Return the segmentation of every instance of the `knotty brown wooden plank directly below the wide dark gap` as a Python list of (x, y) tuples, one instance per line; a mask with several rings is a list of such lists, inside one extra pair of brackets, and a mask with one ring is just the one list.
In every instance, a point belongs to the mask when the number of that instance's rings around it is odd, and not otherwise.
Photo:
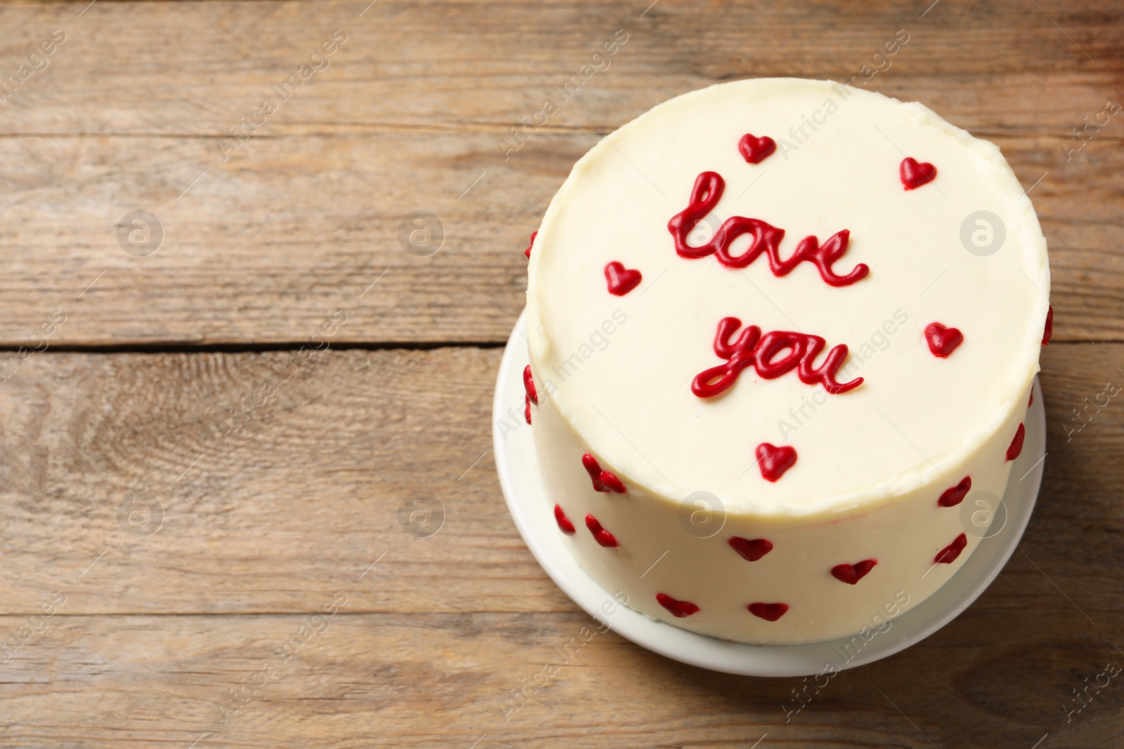
[[(284, 613), (361, 576), (371, 586), (352, 611), (573, 610), (499, 492), (498, 349), (327, 350), (300, 367), (290, 356), (29, 359), (0, 387), (0, 613), (33, 613), (58, 590), (73, 614)], [(1057, 583), (1082, 622), (1122, 609), (1124, 411), (1098, 396), (1124, 383), (1120, 362), (1118, 344), (1045, 349), (1045, 484), (1026, 556), (991, 605), (1070, 606)], [(1086, 398), (1108, 405), (1078, 430)], [(226, 435), (243, 399), (263, 404)], [(399, 520), (417, 492), (443, 508), (434, 536)], [(158, 523), (144, 524), (137, 499), (162, 509)]]

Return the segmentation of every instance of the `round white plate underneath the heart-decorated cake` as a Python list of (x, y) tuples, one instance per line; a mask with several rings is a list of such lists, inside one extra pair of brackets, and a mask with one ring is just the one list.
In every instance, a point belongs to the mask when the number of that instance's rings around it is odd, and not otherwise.
[[(638, 611), (615, 605), (613, 597), (586, 574), (562, 544), (554, 522), (554, 503), (543, 490), (531, 427), (523, 418), (523, 367), (527, 364), (524, 331), (525, 314), (520, 314), (500, 362), (492, 404), (496, 467), (511, 518), (538, 564), (586, 613), (597, 614), (599, 621), (608, 623), (618, 634), (668, 658), (745, 676), (809, 676), (823, 673), (828, 663), (842, 670), (886, 658), (925, 639), (971, 605), (1003, 569), (1031, 519), (1042, 483), (1046, 441), (1042, 390), (1036, 381), (1034, 404), (1026, 414), (1026, 441), (1003, 496), (1007, 511), (1003, 529), (982, 539), (948, 583), (892, 620), (888, 630), (870, 639), (850, 660), (842, 655), (849, 652), (844, 646), (851, 642), (850, 638), (806, 645), (745, 645), (654, 621)], [(1000, 520), (1001, 513), (997, 512), (996, 522)]]

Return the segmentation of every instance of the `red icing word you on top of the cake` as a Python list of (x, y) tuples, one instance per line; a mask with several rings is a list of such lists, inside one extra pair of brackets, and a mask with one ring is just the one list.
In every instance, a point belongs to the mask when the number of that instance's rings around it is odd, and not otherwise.
[(758, 326), (747, 326), (736, 341), (731, 341), (734, 332), (742, 327), (737, 318), (723, 318), (714, 338), (714, 353), (726, 359), (725, 364), (700, 372), (691, 382), (691, 392), (699, 398), (714, 398), (725, 392), (752, 366), (764, 380), (774, 380), (796, 369), (800, 382), (821, 384), (828, 393), (837, 395), (862, 384), (862, 377), (839, 383), (835, 376), (847, 356), (847, 347), (840, 344), (832, 348), (819, 367), (813, 363), (824, 349), (826, 341), (819, 336), (803, 332), (773, 330), (761, 335)]

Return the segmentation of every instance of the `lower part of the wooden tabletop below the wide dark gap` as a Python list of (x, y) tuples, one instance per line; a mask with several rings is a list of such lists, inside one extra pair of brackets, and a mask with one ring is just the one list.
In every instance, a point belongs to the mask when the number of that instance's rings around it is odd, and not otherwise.
[[(1118, 685), (1068, 723), (1062, 705), (1124, 661), (1124, 411), (1090, 410), (1080, 431), (1071, 417), (1124, 381), (1124, 345), (1045, 349), (1050, 455), (1031, 526), (987, 593), (921, 646), (787, 715), (800, 679), (706, 674), (600, 633), (509, 721), (509, 691), (589, 620), (535, 564), (499, 493), (500, 351), (326, 350), (283, 381), (290, 356), (45, 353), (0, 387), (0, 633), (65, 596), (0, 666), (4, 746), (57, 746), (74, 730), (96, 747), (201, 733), (200, 746), (363, 746), (348, 723), (418, 747), (482, 733), (625, 747), (643, 743), (637, 729), (655, 746), (744, 747), (767, 732), (792, 746), (930, 746), (909, 721), (941, 747), (1025, 748), (1044, 732), (1055, 747), (1115, 746)], [(277, 395), (224, 440), (221, 411), (266, 381)], [(419, 491), (444, 506), (428, 538), (398, 519)], [(158, 501), (151, 536), (125, 530), (152, 529), (119, 519), (128, 492)], [(216, 722), (223, 695), (336, 591), (347, 601), (329, 629)]]

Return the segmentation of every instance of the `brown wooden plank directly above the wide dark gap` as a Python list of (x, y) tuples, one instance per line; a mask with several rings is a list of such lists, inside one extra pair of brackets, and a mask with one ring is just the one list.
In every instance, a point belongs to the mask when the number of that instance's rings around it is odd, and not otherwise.
[[(346, 157), (318, 136), (261, 139), (219, 170), (205, 139), (52, 138), (110, 201), (43, 139), (0, 138), (0, 205), (21, 217), (0, 226), (0, 345), (42, 346), (33, 335), (55, 310), (54, 346), (307, 341), (337, 309), (338, 342), (506, 340), (524, 304), (522, 250), (597, 137), (543, 135), (507, 165), (482, 134), (333, 135)], [(1057, 140), (997, 140), (1033, 186), (1058, 339), (1121, 339), (1124, 149), (1094, 143), (1067, 164)], [(143, 170), (120, 171), (138, 154)], [(136, 210), (163, 227), (147, 257), (116, 235)], [(414, 210), (444, 227), (433, 256), (399, 240)]]

